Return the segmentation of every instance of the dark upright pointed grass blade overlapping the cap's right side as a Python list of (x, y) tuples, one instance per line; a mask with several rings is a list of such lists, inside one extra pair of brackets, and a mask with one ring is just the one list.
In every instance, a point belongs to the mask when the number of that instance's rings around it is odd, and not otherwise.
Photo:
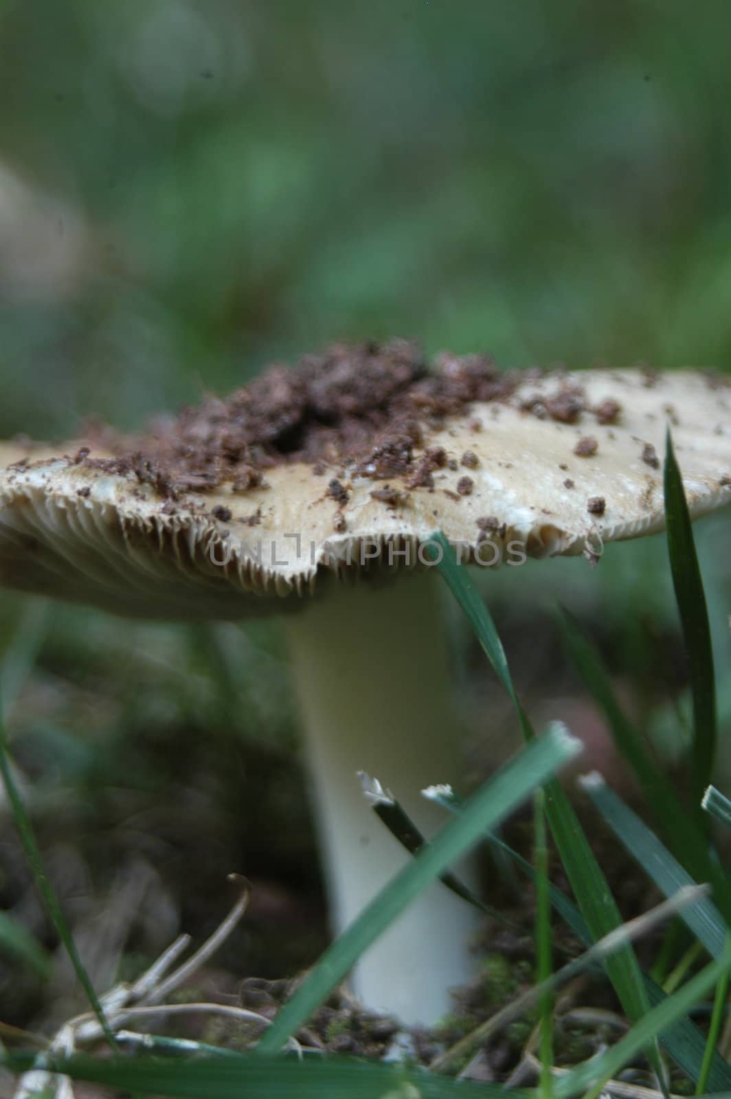
[(698, 566), (688, 504), (669, 430), (665, 452), (665, 522), (673, 587), (680, 615), (693, 696), (690, 790), (698, 806), (708, 786), (717, 750), (716, 678), (706, 593)]

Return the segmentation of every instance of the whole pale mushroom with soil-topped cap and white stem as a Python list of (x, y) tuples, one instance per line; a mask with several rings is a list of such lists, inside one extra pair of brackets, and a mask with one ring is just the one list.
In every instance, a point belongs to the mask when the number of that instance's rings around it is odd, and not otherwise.
[[(429, 374), (409, 344), (337, 346), (134, 440), (0, 444), (0, 582), (147, 618), (291, 612), (337, 932), (407, 857), (356, 771), (427, 831), (420, 789), (459, 779), (432, 533), (481, 566), (596, 562), (663, 528), (647, 456), (668, 422), (691, 515), (715, 510), (731, 499), (730, 393), (689, 371), (499, 374), (443, 356)], [(469, 975), (473, 920), (435, 886), (367, 952), (354, 990), (433, 1022)]]

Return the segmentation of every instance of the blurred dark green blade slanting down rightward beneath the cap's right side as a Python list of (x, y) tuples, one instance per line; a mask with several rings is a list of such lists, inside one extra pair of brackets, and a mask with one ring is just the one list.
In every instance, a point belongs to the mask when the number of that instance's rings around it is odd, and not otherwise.
[(566, 648), (587, 690), (603, 711), (618, 751), (634, 770), (668, 846), (696, 881), (709, 881), (712, 885), (716, 902), (724, 920), (731, 925), (731, 882), (710, 856), (708, 841), (698, 826), (696, 817), (678, 812), (676, 791), (657, 768), (642, 736), (624, 714), (599, 654), (584, 636), (576, 620), (562, 608), (557, 621)]

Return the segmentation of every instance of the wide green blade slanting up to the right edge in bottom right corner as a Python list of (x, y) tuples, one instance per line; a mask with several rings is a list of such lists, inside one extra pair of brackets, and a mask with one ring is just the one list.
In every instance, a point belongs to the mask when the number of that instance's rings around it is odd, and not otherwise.
[(600, 1056), (579, 1065), (571, 1075), (554, 1084), (556, 1099), (569, 1099), (571, 1096), (579, 1095), (587, 1089), (589, 1089), (587, 1099), (598, 1096), (607, 1080), (621, 1072), (647, 1045), (647, 1042), (657, 1039), (671, 1023), (687, 1014), (730, 968), (731, 945), (724, 950), (720, 958), (709, 963), (683, 988), (654, 1007), (644, 1019), (635, 1022), (632, 1030), (616, 1045), (610, 1046)]

